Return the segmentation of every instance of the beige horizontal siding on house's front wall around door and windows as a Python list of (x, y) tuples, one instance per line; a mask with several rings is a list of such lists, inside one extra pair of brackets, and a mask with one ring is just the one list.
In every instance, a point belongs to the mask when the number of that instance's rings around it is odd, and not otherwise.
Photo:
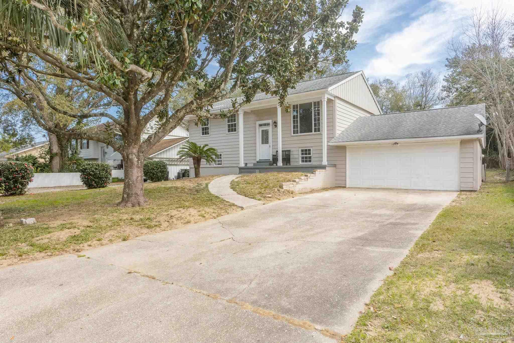
[[(310, 99), (309, 99), (310, 100)], [(308, 101), (307, 99), (305, 101)], [(314, 99), (314, 101), (318, 101)], [(320, 101), (320, 105), (323, 102)], [(320, 110), (322, 113), (322, 109)], [(327, 141), (334, 138), (334, 101), (327, 100)], [(244, 132), (243, 132), (243, 149), (244, 162), (251, 166), (256, 162), (256, 122), (270, 120), (271, 121), (271, 153), (274, 154), (278, 150), (278, 132), (273, 126), (273, 121), (277, 120), (277, 108), (270, 107), (262, 110), (254, 110), (245, 112), (243, 115)], [(216, 148), (223, 155), (223, 166), (208, 165), (205, 161), (201, 163), (202, 175), (228, 174), (237, 173), (239, 166), (239, 135), (237, 133), (227, 133), (226, 119), (210, 119), (210, 135), (200, 136), (200, 127), (195, 126), (194, 120), (189, 121), (189, 133), (191, 141), (201, 145), (209, 144)], [(240, 130), (239, 119), (237, 116), (237, 130)], [(291, 150), (291, 165), (299, 165), (299, 153), (301, 148), (311, 148), (313, 154), (313, 164), (321, 164), (323, 161), (322, 152), (322, 134), (302, 134), (293, 135), (291, 128), (291, 112), (282, 109), (282, 150)], [(341, 149), (337, 147), (327, 147), (327, 163), (336, 164), (342, 158)], [(193, 162), (190, 160), (190, 169), (193, 170)]]

